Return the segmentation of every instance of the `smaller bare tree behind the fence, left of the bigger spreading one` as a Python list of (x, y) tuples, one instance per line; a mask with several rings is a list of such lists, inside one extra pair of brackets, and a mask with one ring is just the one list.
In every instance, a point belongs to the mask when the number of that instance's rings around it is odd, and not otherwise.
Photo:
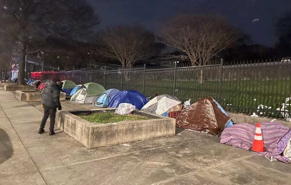
[(101, 55), (120, 61), (125, 69), (130, 69), (138, 60), (152, 54), (155, 36), (141, 27), (118, 26), (100, 31), (98, 43)]

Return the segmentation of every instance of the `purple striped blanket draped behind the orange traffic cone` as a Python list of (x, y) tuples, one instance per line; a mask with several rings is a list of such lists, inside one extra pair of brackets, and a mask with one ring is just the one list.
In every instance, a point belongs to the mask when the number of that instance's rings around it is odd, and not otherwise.
[[(239, 123), (225, 128), (221, 134), (220, 143), (249, 150), (254, 141), (256, 125)], [(266, 152), (256, 154), (274, 157), (282, 162), (291, 163), (287, 157), (281, 156), (289, 139), (291, 128), (285, 127), (277, 122), (261, 123), (264, 147)]]

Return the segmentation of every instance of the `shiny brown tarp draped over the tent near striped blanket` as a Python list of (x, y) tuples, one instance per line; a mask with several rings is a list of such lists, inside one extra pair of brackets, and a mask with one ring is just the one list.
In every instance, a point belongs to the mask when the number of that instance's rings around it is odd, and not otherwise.
[(176, 126), (180, 128), (206, 131), (219, 136), (230, 119), (221, 112), (211, 97), (196, 101), (176, 117)]

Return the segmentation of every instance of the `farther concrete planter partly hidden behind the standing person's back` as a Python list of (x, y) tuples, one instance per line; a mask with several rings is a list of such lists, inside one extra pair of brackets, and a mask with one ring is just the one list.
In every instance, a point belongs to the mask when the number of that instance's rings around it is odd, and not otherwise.
[[(15, 97), (20, 101), (41, 101), (40, 91), (30, 90), (30, 91), (15, 91)], [(65, 101), (65, 93), (61, 92), (60, 101)]]

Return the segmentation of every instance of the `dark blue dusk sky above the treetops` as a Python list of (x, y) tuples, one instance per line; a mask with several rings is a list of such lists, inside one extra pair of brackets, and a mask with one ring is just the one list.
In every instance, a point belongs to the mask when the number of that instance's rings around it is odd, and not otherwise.
[[(87, 0), (100, 17), (99, 28), (141, 25), (159, 34), (161, 24), (176, 14), (211, 13), (250, 34), (256, 43), (276, 42), (275, 22), (291, 11), (291, 0)], [(252, 22), (259, 18), (259, 21)]]

